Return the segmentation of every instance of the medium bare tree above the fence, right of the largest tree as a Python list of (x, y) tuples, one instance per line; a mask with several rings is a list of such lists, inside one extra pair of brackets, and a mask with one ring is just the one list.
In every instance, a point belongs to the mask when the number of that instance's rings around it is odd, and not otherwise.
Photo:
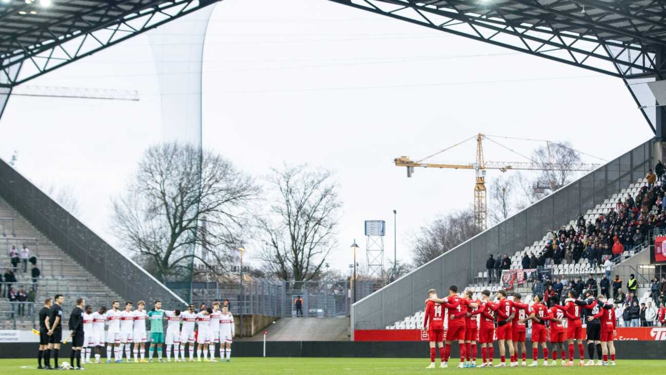
[(268, 212), (258, 218), (266, 270), (282, 280), (312, 280), (337, 242), (342, 202), (330, 171), (284, 165), (268, 177)]

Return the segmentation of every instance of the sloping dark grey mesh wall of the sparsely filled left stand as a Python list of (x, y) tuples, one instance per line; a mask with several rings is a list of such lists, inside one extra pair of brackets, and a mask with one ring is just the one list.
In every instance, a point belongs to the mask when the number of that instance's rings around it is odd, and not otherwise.
[(172, 306), (185, 304), (4, 161), (0, 161), (0, 195), (37, 230), (123, 298), (159, 299)]

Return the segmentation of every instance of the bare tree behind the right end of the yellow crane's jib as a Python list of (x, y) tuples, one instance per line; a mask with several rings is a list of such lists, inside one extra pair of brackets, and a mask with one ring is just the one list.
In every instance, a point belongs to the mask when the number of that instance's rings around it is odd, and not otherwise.
[(568, 141), (548, 142), (545, 146), (534, 150), (532, 159), (541, 167), (537, 183), (549, 186), (552, 191), (570, 183), (577, 174), (572, 166), (581, 163), (580, 153), (572, 149)]

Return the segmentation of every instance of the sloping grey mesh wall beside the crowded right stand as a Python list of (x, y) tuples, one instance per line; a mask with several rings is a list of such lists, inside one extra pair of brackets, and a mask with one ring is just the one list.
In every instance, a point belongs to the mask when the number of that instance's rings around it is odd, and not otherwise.
[(446, 291), (451, 284), (470, 284), (473, 270), (485, 264), (488, 254), (524, 248), (645, 177), (652, 165), (652, 147), (653, 140), (635, 147), (358, 301), (352, 306), (352, 327), (382, 329), (422, 308), (428, 289)]

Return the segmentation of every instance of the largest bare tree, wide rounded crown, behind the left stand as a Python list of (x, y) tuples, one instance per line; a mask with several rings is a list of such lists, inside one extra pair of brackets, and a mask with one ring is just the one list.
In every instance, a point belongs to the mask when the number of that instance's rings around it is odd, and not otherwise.
[[(145, 151), (124, 194), (113, 200), (115, 233), (160, 280), (228, 270), (260, 188), (212, 151), (165, 143)], [(205, 248), (206, 258), (197, 248)]]

